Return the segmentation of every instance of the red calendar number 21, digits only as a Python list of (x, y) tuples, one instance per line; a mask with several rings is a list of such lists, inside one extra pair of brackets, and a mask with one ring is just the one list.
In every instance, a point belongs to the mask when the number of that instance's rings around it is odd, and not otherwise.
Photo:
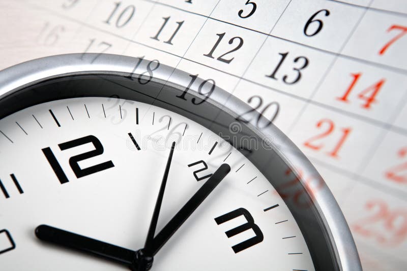
[[(332, 120), (330, 119), (322, 119), (316, 123), (316, 127), (321, 128), (324, 124), (326, 123), (326, 129), (322, 132), (317, 134), (316, 136), (313, 136), (312, 138), (308, 139), (305, 143), (304, 146), (308, 147), (312, 150), (319, 151), (325, 147), (324, 144), (318, 144), (316, 145), (314, 142), (317, 140), (321, 140), (323, 138), (329, 137), (331, 133), (335, 131), (335, 124)], [(340, 149), (342, 148), (343, 144), (345, 143), (347, 137), (349, 136), (350, 132), (352, 131), (351, 128), (341, 128), (340, 129), (342, 132), (342, 135), (336, 145), (332, 148), (331, 151), (327, 153), (327, 155), (331, 157), (338, 157), (338, 153)]]

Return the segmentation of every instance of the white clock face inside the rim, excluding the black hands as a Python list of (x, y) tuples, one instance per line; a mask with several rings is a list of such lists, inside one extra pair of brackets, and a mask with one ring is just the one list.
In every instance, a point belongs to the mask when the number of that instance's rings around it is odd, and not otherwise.
[(256, 166), (174, 112), (71, 98), (14, 113), (0, 131), (2, 269), (125, 270), (42, 242), (34, 230), (47, 224), (142, 248), (175, 141), (156, 234), (222, 163), (231, 170), (154, 256), (152, 270), (314, 270), (295, 219)]

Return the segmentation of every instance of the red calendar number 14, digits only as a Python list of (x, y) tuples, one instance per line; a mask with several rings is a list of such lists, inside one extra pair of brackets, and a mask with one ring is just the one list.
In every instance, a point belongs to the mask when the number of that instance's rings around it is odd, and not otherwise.
[[(353, 88), (355, 87), (355, 85), (357, 84), (357, 82), (359, 81), (360, 77), (362, 76), (362, 73), (351, 74), (351, 76), (353, 77), (351, 84), (346, 89), (343, 96), (337, 97), (338, 100), (344, 101), (345, 103), (349, 102), (348, 97), (351, 94), (351, 92), (352, 92)], [(364, 89), (362, 92), (360, 92), (358, 94), (358, 97), (360, 99), (363, 99), (366, 101), (366, 103), (362, 105), (363, 108), (369, 109), (371, 107), (371, 104), (376, 101), (375, 97), (377, 96), (377, 94), (379, 94), (379, 91), (382, 88), (385, 81), (386, 81), (385, 79), (377, 81), (376, 83), (367, 87), (366, 89)]]

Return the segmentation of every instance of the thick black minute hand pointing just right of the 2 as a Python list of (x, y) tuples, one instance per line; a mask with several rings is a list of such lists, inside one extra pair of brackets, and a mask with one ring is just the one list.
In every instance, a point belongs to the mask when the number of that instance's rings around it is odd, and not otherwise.
[(155, 255), (162, 246), (170, 239), (177, 229), (187, 220), (187, 218), (198, 208), (203, 200), (215, 189), (215, 187), (230, 172), (228, 164), (222, 164), (216, 172), (203, 184), (198, 191), (188, 200), (180, 211), (164, 226), (156, 235), (153, 241), (152, 254)]

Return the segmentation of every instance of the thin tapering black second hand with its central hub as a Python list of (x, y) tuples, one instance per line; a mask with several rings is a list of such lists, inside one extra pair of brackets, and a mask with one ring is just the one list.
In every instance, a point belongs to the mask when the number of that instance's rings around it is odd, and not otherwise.
[(152, 254), (151, 250), (153, 248), (154, 233), (155, 233), (156, 227), (157, 227), (158, 216), (160, 214), (161, 203), (162, 203), (162, 199), (164, 197), (165, 184), (167, 183), (169, 167), (171, 165), (172, 154), (174, 152), (175, 144), (176, 144), (175, 142), (172, 142), (171, 151), (169, 152), (169, 156), (168, 156), (168, 160), (167, 160), (167, 165), (165, 166), (164, 176), (161, 181), (160, 191), (157, 196), (156, 206), (154, 207), (154, 212), (153, 212), (153, 216), (151, 218), (149, 231), (147, 233), (146, 243), (144, 244), (144, 248), (137, 251), (138, 257), (137, 257), (137, 259), (135, 259), (135, 261), (136, 261), (135, 265), (137, 265), (137, 266), (134, 266), (133, 268), (137, 269), (138, 271), (149, 270), (153, 264), (154, 259), (153, 259), (153, 254)]

